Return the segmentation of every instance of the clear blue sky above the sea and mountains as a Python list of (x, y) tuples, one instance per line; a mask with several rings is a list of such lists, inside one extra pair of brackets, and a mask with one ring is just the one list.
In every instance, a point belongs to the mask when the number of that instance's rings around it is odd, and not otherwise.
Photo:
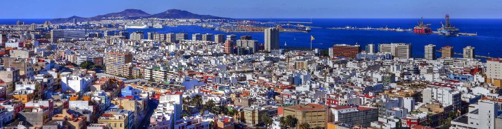
[(502, 18), (502, 0), (2, 0), (0, 18), (92, 17), (125, 9), (231, 18)]

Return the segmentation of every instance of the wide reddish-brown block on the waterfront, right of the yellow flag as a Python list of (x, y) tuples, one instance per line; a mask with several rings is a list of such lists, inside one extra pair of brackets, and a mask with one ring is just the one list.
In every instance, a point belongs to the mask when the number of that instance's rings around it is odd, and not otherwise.
[(331, 57), (343, 56), (347, 58), (356, 58), (357, 54), (361, 52), (361, 46), (359, 45), (337, 44), (333, 45), (331, 48)]

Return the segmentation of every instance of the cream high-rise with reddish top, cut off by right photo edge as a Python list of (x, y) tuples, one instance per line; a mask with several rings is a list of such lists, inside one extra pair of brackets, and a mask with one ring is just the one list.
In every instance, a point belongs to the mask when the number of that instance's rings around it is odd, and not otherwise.
[(502, 87), (502, 58), (488, 59), (486, 67), (486, 82)]

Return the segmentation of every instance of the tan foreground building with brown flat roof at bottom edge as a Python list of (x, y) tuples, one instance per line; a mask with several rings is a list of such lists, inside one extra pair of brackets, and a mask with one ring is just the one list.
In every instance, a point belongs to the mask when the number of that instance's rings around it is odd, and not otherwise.
[(326, 105), (309, 103), (286, 106), (284, 107), (284, 116), (288, 115), (298, 119), (298, 125), (296, 125), (298, 128), (302, 123), (308, 123), (311, 127), (327, 127), (328, 110)]

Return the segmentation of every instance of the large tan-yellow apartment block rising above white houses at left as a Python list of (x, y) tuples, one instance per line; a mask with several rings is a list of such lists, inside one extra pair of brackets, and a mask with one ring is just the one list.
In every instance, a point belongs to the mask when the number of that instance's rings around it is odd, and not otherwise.
[(104, 58), (106, 74), (123, 75), (123, 68), (129, 62), (133, 62), (131, 53), (107, 52)]

